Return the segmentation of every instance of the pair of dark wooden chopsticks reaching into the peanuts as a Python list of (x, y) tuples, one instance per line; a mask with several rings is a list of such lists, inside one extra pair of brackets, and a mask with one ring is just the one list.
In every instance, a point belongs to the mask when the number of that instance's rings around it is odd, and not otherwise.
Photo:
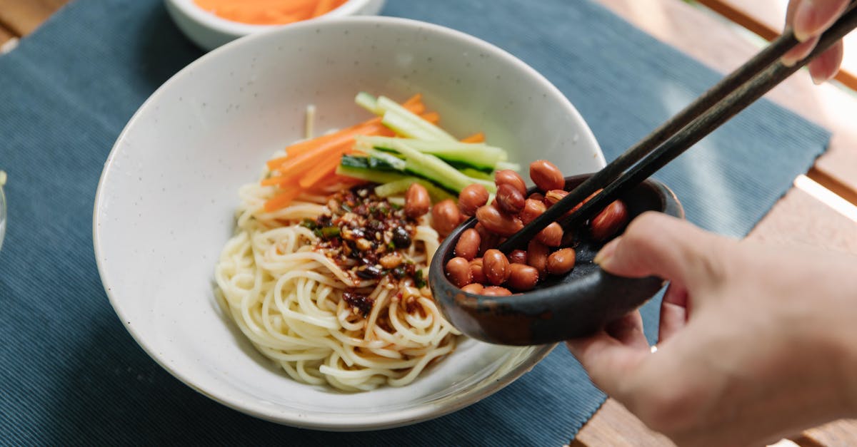
[[(500, 251), (508, 253), (515, 248), (525, 247), (530, 239), (554, 221), (560, 222), (564, 229), (583, 224), (622, 194), (643, 182), (714, 129), (761, 98), (782, 80), (818, 57), (836, 41), (851, 32), (854, 27), (857, 27), (857, 0), (853, 0), (842, 17), (822, 34), (812, 53), (791, 67), (783, 65), (780, 58), (799, 42), (790, 29), (786, 30), (782, 36), (704, 92), (684, 110), (664, 122), (644, 139), (639, 140), (619, 158), (590, 176), (541, 216), (506, 239), (500, 244)], [(560, 220), (563, 214), (598, 189), (603, 190), (570, 216)]]

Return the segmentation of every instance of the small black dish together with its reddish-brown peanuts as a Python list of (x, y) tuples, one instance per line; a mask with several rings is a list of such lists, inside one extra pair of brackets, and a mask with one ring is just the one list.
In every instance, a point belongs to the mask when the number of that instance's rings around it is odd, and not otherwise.
[(675, 194), (652, 179), (578, 228), (563, 229), (554, 222), (525, 250), (503, 253), (496, 248), (589, 176), (563, 176), (554, 164), (536, 160), (530, 164), (534, 188), (526, 188), (524, 179), (508, 170), (496, 173), (491, 203), (483, 188), (462, 191), (460, 212), (473, 217), (441, 243), (428, 281), (452, 325), (488, 343), (558, 343), (600, 330), (662, 288), (659, 277), (617, 277), (593, 262), (598, 250), (643, 212), (684, 217)]

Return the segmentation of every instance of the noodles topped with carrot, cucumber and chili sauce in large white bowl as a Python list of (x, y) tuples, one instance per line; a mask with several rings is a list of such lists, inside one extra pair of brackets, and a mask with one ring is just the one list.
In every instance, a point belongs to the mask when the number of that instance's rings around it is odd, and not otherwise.
[(418, 95), (357, 103), (379, 117), (286, 148), (240, 188), (215, 269), (221, 305), (263, 355), (345, 391), (410, 384), (455, 349), (426, 270), (467, 218), (452, 198), (513, 166), (481, 134), (437, 128)]

